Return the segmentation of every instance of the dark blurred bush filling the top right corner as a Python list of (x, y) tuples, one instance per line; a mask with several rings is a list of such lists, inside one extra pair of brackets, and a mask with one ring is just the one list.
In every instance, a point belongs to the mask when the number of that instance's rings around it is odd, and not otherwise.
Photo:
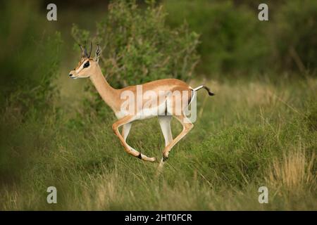
[(317, 1), (286, 1), (274, 19), (274, 64), (289, 71), (316, 70)]

